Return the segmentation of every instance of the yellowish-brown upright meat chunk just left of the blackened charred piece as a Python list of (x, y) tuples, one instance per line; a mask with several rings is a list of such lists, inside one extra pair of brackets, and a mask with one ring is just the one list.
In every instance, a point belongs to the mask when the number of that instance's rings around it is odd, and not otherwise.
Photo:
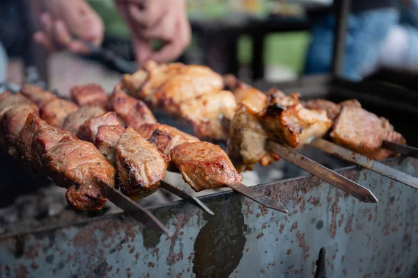
[(256, 163), (265, 166), (279, 160), (265, 150), (268, 139), (256, 111), (241, 103), (229, 126), (227, 153), (238, 172), (252, 170)]

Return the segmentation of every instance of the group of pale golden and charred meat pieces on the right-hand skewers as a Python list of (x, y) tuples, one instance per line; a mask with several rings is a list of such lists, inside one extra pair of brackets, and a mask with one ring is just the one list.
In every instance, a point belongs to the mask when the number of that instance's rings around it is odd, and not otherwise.
[(261, 92), (200, 65), (148, 62), (125, 75), (122, 84), (130, 95), (192, 124), (196, 136), (228, 141), (239, 172), (278, 159), (265, 150), (267, 138), (295, 148), (330, 138), (376, 160), (395, 155), (382, 149), (383, 140), (405, 143), (386, 119), (365, 111), (355, 99), (302, 103), (297, 93)]

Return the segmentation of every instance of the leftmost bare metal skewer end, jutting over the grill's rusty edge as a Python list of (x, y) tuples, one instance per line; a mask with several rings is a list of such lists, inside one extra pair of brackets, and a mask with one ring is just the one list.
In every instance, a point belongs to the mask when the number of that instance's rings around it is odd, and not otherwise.
[(107, 197), (110, 202), (116, 204), (116, 206), (121, 208), (126, 213), (129, 213), (133, 218), (135, 218), (135, 220), (138, 220), (144, 225), (149, 225), (157, 231), (164, 232), (164, 234), (167, 234), (169, 238), (173, 236), (164, 224), (162, 224), (162, 222), (160, 222), (160, 220), (158, 220), (153, 213), (150, 213), (148, 209), (139, 206), (139, 204), (132, 201), (132, 199), (123, 195), (123, 193), (109, 186), (109, 184), (102, 180), (100, 180), (100, 189), (102, 190), (104, 197)]

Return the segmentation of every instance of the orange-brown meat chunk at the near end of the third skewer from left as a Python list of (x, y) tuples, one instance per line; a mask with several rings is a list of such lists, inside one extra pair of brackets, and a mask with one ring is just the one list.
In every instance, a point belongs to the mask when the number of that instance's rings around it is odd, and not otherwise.
[(240, 183), (242, 176), (217, 145), (209, 142), (186, 142), (171, 151), (171, 159), (183, 179), (199, 192)]

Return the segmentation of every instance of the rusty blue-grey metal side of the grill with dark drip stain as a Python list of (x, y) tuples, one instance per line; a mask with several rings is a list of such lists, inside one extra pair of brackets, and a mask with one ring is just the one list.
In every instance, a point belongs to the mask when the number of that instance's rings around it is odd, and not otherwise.
[[(418, 161), (388, 165), (418, 175)], [(370, 188), (361, 203), (316, 177), (254, 189), (288, 215), (236, 193), (204, 198), (215, 212), (176, 203), (153, 212), (173, 238), (123, 215), (0, 238), (0, 277), (314, 277), (321, 247), (327, 277), (411, 277), (417, 270), (416, 190), (359, 168), (339, 171)]]

